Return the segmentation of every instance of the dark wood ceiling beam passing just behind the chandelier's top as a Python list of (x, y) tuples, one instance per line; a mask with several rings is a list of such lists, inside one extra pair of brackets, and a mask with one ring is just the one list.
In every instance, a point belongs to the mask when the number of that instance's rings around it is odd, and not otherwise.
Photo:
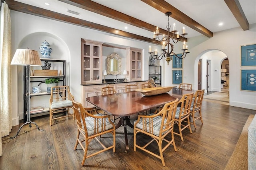
[(197, 32), (200, 32), (201, 34), (207, 37), (213, 37), (213, 33), (210, 30), (208, 30), (207, 28), (205, 28), (204, 26), (202, 26), (201, 24), (199, 24), (198, 22), (196, 22), (195, 20), (187, 16), (186, 14), (182, 13), (180, 10), (178, 10), (174, 6), (168, 4), (168, 2), (164, 0), (141, 0), (141, 1), (163, 12), (164, 14), (166, 12), (172, 12), (172, 15), (170, 17), (196, 30)]

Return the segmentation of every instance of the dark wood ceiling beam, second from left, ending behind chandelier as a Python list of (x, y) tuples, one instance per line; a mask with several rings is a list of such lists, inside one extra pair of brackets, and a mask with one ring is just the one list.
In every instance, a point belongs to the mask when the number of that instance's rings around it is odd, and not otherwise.
[[(124, 22), (126, 24), (130, 24), (132, 26), (136, 26), (138, 28), (142, 28), (144, 30), (148, 30), (152, 32), (152, 37), (153, 37), (153, 32), (156, 31), (156, 26), (153, 26), (151, 24), (148, 24), (142, 20), (138, 20), (132, 16), (128, 16), (126, 14), (123, 14), (122, 12), (118, 12), (116, 10), (113, 10), (111, 8), (108, 8), (106, 6), (103, 6), (101, 4), (98, 4), (96, 2), (93, 2), (91, 0), (58, 0), (61, 2), (65, 2), (67, 4), (76, 6), (78, 8), (82, 8), (84, 10), (88, 10), (91, 12), (94, 12), (96, 14), (100, 14), (103, 16), (106, 16), (108, 18), (112, 18), (114, 20), (118, 20), (121, 22)], [(160, 34), (167, 34), (166, 30), (159, 28), (159, 33)], [(175, 35), (177, 36), (177, 35)], [(187, 42), (187, 38), (183, 38), (182, 36), (180, 36), (180, 41), (183, 42)]]

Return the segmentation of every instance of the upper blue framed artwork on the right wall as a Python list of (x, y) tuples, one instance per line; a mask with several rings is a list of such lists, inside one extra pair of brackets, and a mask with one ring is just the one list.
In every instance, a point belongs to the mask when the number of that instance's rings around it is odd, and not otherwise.
[(241, 45), (241, 66), (256, 66), (256, 44)]

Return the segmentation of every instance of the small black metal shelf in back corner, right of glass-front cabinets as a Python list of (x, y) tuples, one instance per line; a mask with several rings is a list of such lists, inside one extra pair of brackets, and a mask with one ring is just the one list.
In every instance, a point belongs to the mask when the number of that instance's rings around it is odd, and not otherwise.
[(161, 65), (149, 65), (148, 79), (154, 79), (155, 84), (161, 85), (162, 81), (162, 67)]

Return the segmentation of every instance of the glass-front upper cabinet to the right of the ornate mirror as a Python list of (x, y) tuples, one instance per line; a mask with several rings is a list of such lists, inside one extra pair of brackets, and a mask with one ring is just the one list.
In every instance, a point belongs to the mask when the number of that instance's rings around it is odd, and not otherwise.
[(126, 49), (126, 69), (129, 80), (142, 80), (142, 49)]

